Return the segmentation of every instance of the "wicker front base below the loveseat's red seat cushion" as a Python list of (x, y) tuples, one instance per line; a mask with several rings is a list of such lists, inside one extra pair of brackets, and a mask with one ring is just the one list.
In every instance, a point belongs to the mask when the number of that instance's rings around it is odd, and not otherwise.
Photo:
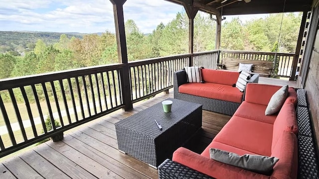
[(204, 110), (233, 115), (241, 103), (174, 92), (174, 98), (203, 105)]

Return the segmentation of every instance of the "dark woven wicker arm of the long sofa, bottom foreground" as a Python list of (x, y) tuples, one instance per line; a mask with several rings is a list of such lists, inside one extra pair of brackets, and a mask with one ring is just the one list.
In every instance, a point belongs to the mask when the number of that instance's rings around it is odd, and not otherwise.
[(166, 159), (159, 166), (159, 179), (212, 179), (186, 166)]

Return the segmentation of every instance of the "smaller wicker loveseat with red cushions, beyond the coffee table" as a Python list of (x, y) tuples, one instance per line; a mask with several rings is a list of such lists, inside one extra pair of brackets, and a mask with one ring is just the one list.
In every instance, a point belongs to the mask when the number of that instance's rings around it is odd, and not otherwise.
[[(244, 98), (244, 92), (232, 87), (236, 84), (238, 76), (239, 73), (235, 71), (202, 69), (202, 78), (205, 83), (196, 84), (187, 82), (185, 70), (177, 71), (173, 74), (174, 98), (202, 104), (205, 110), (233, 115)], [(259, 75), (255, 74), (248, 83), (258, 83), (258, 80)], [(196, 88), (208, 89), (208, 91), (202, 92)]]

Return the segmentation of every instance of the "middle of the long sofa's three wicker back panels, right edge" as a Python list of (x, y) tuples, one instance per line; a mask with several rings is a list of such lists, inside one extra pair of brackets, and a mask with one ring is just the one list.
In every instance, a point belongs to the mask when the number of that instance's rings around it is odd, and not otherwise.
[(310, 118), (307, 107), (297, 107), (297, 123), (299, 135), (312, 137)]

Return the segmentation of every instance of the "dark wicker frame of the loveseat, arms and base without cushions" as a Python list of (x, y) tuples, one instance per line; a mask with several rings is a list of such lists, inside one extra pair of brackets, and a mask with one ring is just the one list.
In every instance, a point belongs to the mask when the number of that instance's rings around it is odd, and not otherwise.
[[(207, 97), (200, 97), (200, 96), (178, 92), (178, 87), (182, 84), (187, 83), (186, 72), (184, 70), (175, 72), (173, 75), (173, 78), (174, 78), (174, 98), (176, 99), (199, 103), (203, 105), (203, 109), (205, 110), (227, 114), (227, 115), (233, 115), (240, 105), (240, 103), (236, 103), (236, 102), (211, 99)], [(259, 81), (259, 75), (255, 74), (250, 79), (249, 83), (258, 83), (258, 81)]]

